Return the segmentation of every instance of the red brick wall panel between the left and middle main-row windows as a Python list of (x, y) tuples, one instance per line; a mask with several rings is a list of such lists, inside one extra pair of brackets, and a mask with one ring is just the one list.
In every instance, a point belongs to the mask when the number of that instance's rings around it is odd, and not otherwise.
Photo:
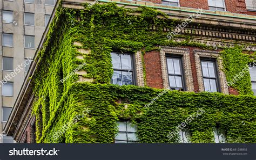
[(161, 60), (159, 51), (153, 50), (144, 55), (146, 67), (147, 86), (163, 89), (163, 78), (161, 71)]

